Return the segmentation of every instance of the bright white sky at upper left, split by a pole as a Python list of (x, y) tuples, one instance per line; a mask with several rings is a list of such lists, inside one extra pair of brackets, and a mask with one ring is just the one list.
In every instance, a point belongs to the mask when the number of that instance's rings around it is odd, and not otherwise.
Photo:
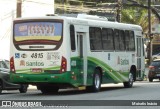
[[(22, 17), (54, 14), (54, 0), (22, 0)], [(16, 17), (17, 0), (0, 0), (0, 59), (9, 59), (12, 20)]]

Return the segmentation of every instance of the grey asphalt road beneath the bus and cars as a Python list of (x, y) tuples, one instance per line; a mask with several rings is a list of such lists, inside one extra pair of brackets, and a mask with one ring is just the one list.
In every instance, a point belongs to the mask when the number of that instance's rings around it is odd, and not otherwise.
[[(148, 81), (135, 82), (132, 88), (124, 88), (123, 84), (105, 84), (102, 85), (101, 91), (98, 93), (89, 93), (86, 91), (78, 91), (74, 89), (60, 90), (57, 94), (43, 95), (40, 91), (36, 90), (35, 87), (30, 87), (27, 93), (19, 93), (19, 91), (3, 91), (0, 95), (0, 100), (3, 101), (16, 101), (25, 100), (39, 102), (38, 100), (44, 100), (48, 104), (54, 104), (53, 107), (47, 108), (71, 108), (71, 109), (158, 109), (160, 108), (160, 82), (154, 80), (152, 83)], [(47, 101), (48, 100), (48, 101)], [(56, 100), (64, 100), (58, 101)], [(71, 101), (69, 101), (71, 100)], [(80, 101), (76, 101), (80, 100)], [(95, 101), (97, 100), (97, 101)], [(99, 101), (100, 100), (100, 101)], [(117, 101), (118, 100), (118, 101)], [(141, 100), (144, 103), (143, 106), (130, 106), (132, 102)], [(150, 100), (155, 101), (159, 106), (146, 106), (145, 103)], [(23, 101), (23, 102), (25, 102)], [(18, 101), (16, 101), (18, 102)], [(41, 101), (40, 101), (41, 102)], [(68, 103), (68, 104), (67, 104)], [(43, 104), (43, 101), (42, 101)], [(74, 105), (74, 106), (72, 106)], [(99, 105), (99, 106), (98, 106)], [(102, 106), (101, 106), (102, 105)], [(31, 107), (27, 107), (31, 108)], [(42, 107), (36, 107), (41, 109)], [(46, 107), (45, 107), (46, 108)]]

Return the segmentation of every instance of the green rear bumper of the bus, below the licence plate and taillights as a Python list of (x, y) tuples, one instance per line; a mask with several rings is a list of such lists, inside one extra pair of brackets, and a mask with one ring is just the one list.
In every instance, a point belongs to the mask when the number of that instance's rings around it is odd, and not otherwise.
[(16, 84), (32, 84), (32, 85), (59, 85), (70, 84), (74, 85), (75, 81), (72, 79), (71, 72), (65, 72), (61, 74), (23, 74), (23, 73), (11, 73), (11, 82)]

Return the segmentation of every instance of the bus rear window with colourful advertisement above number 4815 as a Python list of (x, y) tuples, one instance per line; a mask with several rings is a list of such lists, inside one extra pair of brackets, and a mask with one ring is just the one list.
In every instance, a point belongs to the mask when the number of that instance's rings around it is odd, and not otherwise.
[(55, 50), (62, 43), (62, 22), (18, 22), (13, 42), (18, 50)]

